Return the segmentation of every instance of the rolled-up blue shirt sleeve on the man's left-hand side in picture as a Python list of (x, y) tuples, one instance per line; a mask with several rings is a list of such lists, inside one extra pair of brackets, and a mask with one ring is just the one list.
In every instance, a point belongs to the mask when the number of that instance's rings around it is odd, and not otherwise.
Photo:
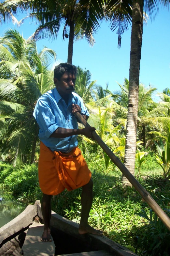
[(33, 116), (47, 138), (59, 127), (56, 123), (55, 115), (47, 102), (38, 100)]

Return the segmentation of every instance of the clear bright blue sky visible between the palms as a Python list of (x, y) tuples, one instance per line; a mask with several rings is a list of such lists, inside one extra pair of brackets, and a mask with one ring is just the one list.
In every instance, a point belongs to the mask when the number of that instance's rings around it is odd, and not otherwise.
[[(20, 15), (18, 20), (22, 17), (24, 16)], [(12, 23), (3, 24), (0, 27), (0, 36), (3, 36), (7, 28), (13, 27), (16, 27), (24, 38), (28, 38), (34, 33), (37, 25), (35, 21), (30, 20), (26, 20), (20, 28)], [(56, 40), (39, 40), (37, 47), (42, 49), (43, 46), (47, 46), (55, 50), (57, 59), (66, 62), (68, 40), (62, 39), (62, 30), (61, 27)], [(119, 86), (116, 81), (122, 84), (124, 77), (129, 78), (130, 38), (131, 26), (122, 35), (121, 49), (118, 49), (116, 32), (112, 32), (109, 24), (103, 22), (95, 35), (96, 43), (93, 47), (90, 47), (85, 39), (74, 43), (73, 64), (89, 69), (92, 80), (97, 80), (97, 84), (102, 85), (103, 88), (108, 82), (108, 89), (117, 90)], [(158, 91), (166, 87), (170, 88), (170, 11), (168, 9), (160, 9), (156, 18), (152, 22), (149, 20), (144, 26), (140, 82), (146, 86), (150, 83)]]

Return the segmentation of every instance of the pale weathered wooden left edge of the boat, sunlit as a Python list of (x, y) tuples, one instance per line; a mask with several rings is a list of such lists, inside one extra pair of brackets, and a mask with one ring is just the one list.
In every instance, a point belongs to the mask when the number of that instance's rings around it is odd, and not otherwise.
[(36, 216), (36, 211), (37, 206), (30, 204), (20, 215), (0, 228), (0, 244), (9, 236), (32, 224), (33, 218)]

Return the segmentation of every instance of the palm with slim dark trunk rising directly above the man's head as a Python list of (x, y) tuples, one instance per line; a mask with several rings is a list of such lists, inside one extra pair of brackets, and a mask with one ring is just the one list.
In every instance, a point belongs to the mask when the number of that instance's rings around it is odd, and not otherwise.
[(39, 25), (30, 39), (56, 38), (63, 25), (63, 39), (69, 37), (67, 62), (72, 63), (74, 40), (85, 36), (90, 45), (95, 42), (94, 33), (104, 16), (104, 3), (99, 2), (96, 1), (93, 6), (93, 1), (82, 0), (20, 0), (17, 1), (17, 8), (30, 13), (24, 19), (35, 18)]

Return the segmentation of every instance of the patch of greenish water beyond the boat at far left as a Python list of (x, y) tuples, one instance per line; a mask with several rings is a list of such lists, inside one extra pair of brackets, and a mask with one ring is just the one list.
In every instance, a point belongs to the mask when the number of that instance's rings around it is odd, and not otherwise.
[(17, 203), (16, 199), (7, 199), (7, 193), (0, 190), (0, 228), (18, 216), (27, 205)]

